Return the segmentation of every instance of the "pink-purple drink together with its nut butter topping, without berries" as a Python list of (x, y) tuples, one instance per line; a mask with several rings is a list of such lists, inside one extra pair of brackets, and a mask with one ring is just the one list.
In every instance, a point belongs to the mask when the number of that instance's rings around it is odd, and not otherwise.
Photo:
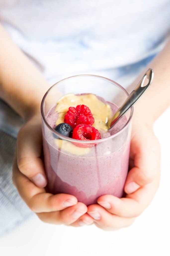
[[(64, 96), (65, 97), (65, 96)], [(108, 132), (107, 119), (118, 106), (94, 94), (70, 94), (53, 105), (45, 116), (55, 129), (62, 123), (68, 106), (87, 105), (95, 118), (93, 126), (101, 139), (93, 145), (82, 146), (82, 141), (57, 137), (43, 124), (43, 150), (48, 190), (53, 194), (74, 195), (86, 205), (95, 204), (101, 195), (122, 197), (128, 172), (130, 129), (123, 118)], [(79, 97), (79, 98), (77, 98)], [(116, 135), (116, 136), (114, 136)], [(75, 144), (75, 141), (79, 143)]]

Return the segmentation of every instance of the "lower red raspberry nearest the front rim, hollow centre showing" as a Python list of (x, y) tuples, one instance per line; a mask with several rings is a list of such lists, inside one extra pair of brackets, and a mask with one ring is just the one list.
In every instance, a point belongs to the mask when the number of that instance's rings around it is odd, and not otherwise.
[[(73, 130), (73, 139), (76, 140), (82, 140), (82, 141), (89, 141), (89, 140), (98, 140), (101, 138), (99, 131), (87, 124), (79, 124), (77, 125)], [(93, 144), (80, 144), (80, 143), (74, 143), (76, 146), (81, 147), (92, 147)]]

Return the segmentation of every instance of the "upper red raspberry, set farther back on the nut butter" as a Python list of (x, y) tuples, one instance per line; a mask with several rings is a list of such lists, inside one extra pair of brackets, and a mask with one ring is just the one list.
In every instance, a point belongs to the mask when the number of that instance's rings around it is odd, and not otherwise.
[(92, 125), (94, 121), (94, 117), (86, 105), (77, 105), (76, 108), (70, 107), (64, 116), (64, 123), (70, 124), (72, 128), (78, 124)]

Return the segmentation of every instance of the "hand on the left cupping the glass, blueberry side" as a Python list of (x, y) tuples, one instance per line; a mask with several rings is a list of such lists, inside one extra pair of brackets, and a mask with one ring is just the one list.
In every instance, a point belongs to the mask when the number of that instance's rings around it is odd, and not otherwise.
[(46, 193), (46, 176), (42, 151), (40, 115), (31, 118), (19, 131), (16, 157), (13, 166), (13, 182), (20, 196), (44, 222), (82, 226), (93, 223), (87, 206), (72, 195)]

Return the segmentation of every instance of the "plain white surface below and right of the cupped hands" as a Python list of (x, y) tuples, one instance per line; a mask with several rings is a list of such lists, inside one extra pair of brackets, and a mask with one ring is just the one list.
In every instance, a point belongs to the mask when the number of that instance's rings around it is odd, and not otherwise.
[[(128, 228), (102, 231), (95, 226), (54, 226), (36, 216), (0, 239), (1, 256), (170, 255), (170, 109), (154, 124), (161, 143), (160, 187), (143, 214)], [(10, 221), (10, 220), (9, 220)]]

